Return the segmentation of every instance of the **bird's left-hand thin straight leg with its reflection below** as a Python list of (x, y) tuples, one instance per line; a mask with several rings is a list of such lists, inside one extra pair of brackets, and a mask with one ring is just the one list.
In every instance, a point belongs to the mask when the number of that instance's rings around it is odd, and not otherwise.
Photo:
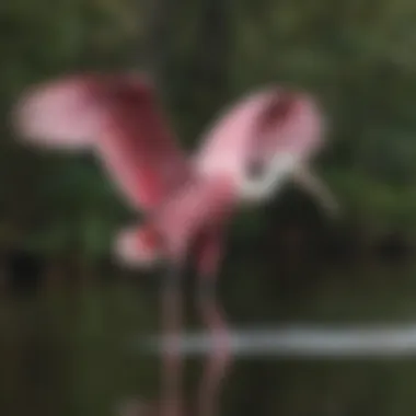
[(182, 416), (182, 267), (169, 270), (162, 289), (162, 332), (167, 338), (162, 355), (162, 416)]

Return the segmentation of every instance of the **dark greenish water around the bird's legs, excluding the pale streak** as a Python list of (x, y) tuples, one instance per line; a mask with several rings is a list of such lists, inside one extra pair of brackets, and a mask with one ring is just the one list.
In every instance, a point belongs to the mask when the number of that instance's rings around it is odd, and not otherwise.
[[(416, 322), (416, 267), (409, 266), (323, 270), (294, 262), (279, 269), (247, 262), (226, 267), (218, 294), (230, 328), (291, 322)], [(190, 289), (186, 299), (187, 328), (200, 328)], [(132, 398), (153, 407), (131, 415), (159, 414), (160, 357), (143, 354), (134, 343), (159, 330), (159, 305), (157, 285), (123, 278), (41, 287), (28, 296), (4, 292), (0, 415), (109, 416), (118, 415), (117, 407)], [(185, 363), (184, 414), (197, 415), (207, 357)], [(217, 414), (413, 416), (415, 392), (412, 358), (235, 356), (218, 384)]]

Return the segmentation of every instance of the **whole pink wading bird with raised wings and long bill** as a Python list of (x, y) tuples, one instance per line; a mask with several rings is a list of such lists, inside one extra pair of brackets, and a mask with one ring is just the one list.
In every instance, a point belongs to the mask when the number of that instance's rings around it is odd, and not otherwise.
[[(227, 326), (211, 289), (236, 206), (259, 204), (292, 178), (326, 208), (336, 208), (307, 166), (322, 146), (324, 123), (304, 93), (270, 86), (247, 95), (213, 124), (192, 158), (178, 147), (151, 83), (139, 74), (90, 73), (41, 84), (18, 103), (14, 122), (19, 134), (37, 146), (94, 151), (127, 201), (145, 212), (143, 224), (116, 239), (116, 252), (130, 265), (165, 259), (174, 266), (166, 279), (172, 286), (164, 291), (163, 323), (176, 340), (181, 308), (175, 289), (196, 247), (203, 319), (221, 344), (216, 354), (222, 359), (216, 362), (222, 363), (216, 365), (212, 380), (229, 362)], [(253, 169), (262, 171), (257, 177)], [(180, 366), (173, 347), (165, 358), (166, 391), (177, 390)]]

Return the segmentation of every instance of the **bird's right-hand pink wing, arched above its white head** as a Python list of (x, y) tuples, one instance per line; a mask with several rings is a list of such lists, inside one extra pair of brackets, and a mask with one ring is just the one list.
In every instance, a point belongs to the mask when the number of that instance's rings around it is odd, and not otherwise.
[(277, 153), (304, 159), (321, 143), (322, 119), (305, 94), (276, 86), (250, 94), (220, 116), (203, 138), (195, 159), (206, 174), (227, 173), (240, 182), (253, 162)]

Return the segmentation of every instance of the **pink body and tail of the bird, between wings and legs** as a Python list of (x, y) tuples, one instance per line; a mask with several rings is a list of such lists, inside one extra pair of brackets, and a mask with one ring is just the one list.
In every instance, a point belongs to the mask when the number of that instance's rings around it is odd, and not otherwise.
[(212, 245), (221, 245), (236, 201), (234, 187), (226, 177), (195, 180), (155, 209), (145, 224), (124, 230), (116, 239), (116, 250), (128, 264), (152, 265), (160, 259), (183, 261), (197, 243), (199, 270), (215, 268), (213, 259), (220, 254)]

